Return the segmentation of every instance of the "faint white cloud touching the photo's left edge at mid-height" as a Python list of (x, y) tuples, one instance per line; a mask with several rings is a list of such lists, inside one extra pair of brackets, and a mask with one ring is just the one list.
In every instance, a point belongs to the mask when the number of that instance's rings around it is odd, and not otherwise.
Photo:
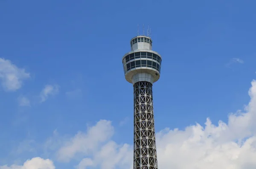
[(25, 69), (18, 68), (11, 61), (0, 58), (0, 82), (4, 90), (15, 91), (19, 89), (23, 80), (29, 78)]

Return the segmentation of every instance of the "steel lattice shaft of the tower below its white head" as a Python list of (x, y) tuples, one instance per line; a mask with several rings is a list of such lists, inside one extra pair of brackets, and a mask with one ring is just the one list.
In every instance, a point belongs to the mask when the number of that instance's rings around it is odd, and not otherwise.
[(152, 84), (134, 84), (134, 169), (157, 169)]

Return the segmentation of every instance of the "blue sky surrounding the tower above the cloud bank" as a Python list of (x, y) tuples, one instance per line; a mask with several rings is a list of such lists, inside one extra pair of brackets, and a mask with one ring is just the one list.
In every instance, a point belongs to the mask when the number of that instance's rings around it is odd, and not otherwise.
[[(255, 6), (253, 0), (1, 0), (0, 166), (40, 157), (56, 169), (73, 168), (94, 154), (78, 152), (68, 163), (56, 154), (100, 120), (112, 121), (114, 132), (95, 149), (109, 140), (133, 144), (133, 87), (122, 56), (137, 24), (140, 32), (150, 25), (153, 50), (163, 58), (153, 86), (156, 132), (204, 127), (207, 117), (215, 127), (219, 120), (229, 125), (229, 114), (254, 96), (248, 90), (256, 76)], [(100, 168), (92, 159), (91, 167)]]

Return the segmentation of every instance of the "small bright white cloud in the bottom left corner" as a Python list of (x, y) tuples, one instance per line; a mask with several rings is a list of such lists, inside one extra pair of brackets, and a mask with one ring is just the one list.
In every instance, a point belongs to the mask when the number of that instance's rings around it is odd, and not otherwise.
[(0, 166), (0, 169), (55, 169), (53, 162), (49, 159), (44, 160), (43, 158), (36, 157), (31, 160), (27, 160), (23, 166), (12, 165), (12, 166)]

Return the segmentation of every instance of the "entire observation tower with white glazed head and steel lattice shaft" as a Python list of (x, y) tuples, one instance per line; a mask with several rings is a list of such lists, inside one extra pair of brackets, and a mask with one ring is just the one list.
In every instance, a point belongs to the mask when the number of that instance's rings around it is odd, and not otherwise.
[(160, 78), (162, 58), (152, 51), (152, 39), (131, 39), (122, 58), (125, 79), (134, 86), (134, 169), (158, 169), (152, 85)]

